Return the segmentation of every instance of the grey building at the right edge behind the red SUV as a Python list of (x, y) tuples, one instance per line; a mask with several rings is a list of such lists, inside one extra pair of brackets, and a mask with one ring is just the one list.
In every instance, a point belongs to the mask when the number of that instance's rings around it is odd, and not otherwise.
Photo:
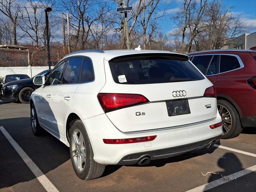
[(245, 33), (233, 39), (233, 44), (228, 46), (229, 49), (250, 49), (256, 46), (256, 32), (252, 34)]

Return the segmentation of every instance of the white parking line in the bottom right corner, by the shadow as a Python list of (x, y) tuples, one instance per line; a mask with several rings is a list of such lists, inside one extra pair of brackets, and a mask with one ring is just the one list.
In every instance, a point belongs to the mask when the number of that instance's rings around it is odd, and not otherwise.
[(224, 184), (226, 182), (232, 181), (232, 180), (234, 180), (236, 178), (242, 177), (242, 176), (244, 176), (246, 174), (249, 174), (249, 173), (255, 172), (255, 171), (256, 171), (256, 165), (251, 166), (249, 168), (246, 168), (246, 169), (244, 169), (242, 171), (238, 171), (236, 173), (230, 174), (228, 176), (224, 176), (224, 177), (222, 177), (220, 179), (217, 179), (217, 180), (212, 181), (210, 183), (206, 183), (206, 184), (201, 185), (199, 187), (196, 187), (194, 189), (188, 190), (187, 192), (203, 192), (203, 191), (212, 189), (212, 188), (217, 187), (217, 186), (219, 186), (221, 184)]

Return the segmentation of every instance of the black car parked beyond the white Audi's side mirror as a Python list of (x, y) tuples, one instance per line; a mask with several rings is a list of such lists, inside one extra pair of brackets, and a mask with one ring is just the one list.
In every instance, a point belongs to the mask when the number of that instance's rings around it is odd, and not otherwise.
[[(44, 75), (47, 78), (51, 71), (51, 69), (45, 70), (37, 75)], [(4, 84), (1, 90), (2, 98), (29, 103), (32, 92), (40, 87), (33, 83), (33, 79), (34, 77)]]

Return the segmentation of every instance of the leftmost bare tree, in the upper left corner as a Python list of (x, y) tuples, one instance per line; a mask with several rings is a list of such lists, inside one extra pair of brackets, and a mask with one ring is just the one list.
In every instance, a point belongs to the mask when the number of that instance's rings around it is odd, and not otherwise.
[(17, 19), (18, 19), (18, 8), (20, 4), (16, 0), (1, 0), (0, 1), (0, 12), (2, 12), (6, 17), (8, 17), (12, 22), (12, 34), (14, 39), (14, 45), (17, 45)]

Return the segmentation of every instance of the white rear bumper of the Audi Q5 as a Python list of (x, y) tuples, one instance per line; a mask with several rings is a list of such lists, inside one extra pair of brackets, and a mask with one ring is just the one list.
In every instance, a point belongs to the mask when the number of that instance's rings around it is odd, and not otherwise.
[[(190, 146), (188, 150), (180, 149), (178, 154), (196, 150), (208, 146), (216, 137), (222, 134), (222, 126), (211, 129), (209, 126), (221, 122), (220, 115), (216, 114), (216, 118), (209, 122), (196, 124), (186, 127), (174, 128), (169, 130), (157, 130), (152, 132), (141, 133), (124, 133), (118, 130), (108, 119), (106, 114), (101, 114), (92, 118), (83, 120), (86, 127), (92, 149), (94, 152), (94, 160), (100, 164), (120, 164), (124, 158), (130, 154), (151, 154), (152, 151), (173, 149), (182, 146), (188, 146), (194, 143), (200, 143), (204, 140), (208, 142), (201, 146)], [(135, 138), (144, 136), (157, 135), (156, 139), (151, 142), (140, 142), (131, 144), (105, 144), (103, 139), (120, 139)], [(213, 139), (212, 138), (216, 138)], [(154, 158), (168, 158), (177, 155), (175, 152), (163, 152), (164, 156), (151, 155)], [(137, 158), (136, 158), (137, 160)], [(128, 163), (136, 163), (136, 160)]]

